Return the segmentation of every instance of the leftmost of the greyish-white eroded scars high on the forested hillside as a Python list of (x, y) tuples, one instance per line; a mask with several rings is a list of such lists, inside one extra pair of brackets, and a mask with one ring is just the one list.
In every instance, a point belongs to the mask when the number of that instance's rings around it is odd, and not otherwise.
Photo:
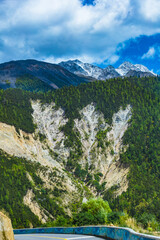
[(41, 105), (39, 101), (32, 101), (33, 119), (37, 125), (36, 134), (43, 134), (49, 148), (55, 153), (59, 162), (69, 157), (70, 149), (64, 146), (66, 139), (60, 130), (68, 119), (63, 109), (57, 109), (54, 103)]

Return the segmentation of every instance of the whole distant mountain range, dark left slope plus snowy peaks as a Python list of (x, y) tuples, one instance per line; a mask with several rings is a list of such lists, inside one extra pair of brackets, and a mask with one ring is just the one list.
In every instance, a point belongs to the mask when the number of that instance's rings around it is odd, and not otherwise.
[(18, 87), (28, 91), (45, 92), (95, 80), (155, 75), (147, 67), (130, 62), (122, 63), (117, 69), (111, 65), (103, 69), (79, 60), (51, 64), (30, 59), (0, 64), (0, 88)]

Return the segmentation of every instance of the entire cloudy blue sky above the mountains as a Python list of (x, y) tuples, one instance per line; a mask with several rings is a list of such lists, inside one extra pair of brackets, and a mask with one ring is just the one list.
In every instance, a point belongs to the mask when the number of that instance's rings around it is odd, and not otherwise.
[(19, 59), (160, 74), (160, 0), (0, 0), (0, 63)]

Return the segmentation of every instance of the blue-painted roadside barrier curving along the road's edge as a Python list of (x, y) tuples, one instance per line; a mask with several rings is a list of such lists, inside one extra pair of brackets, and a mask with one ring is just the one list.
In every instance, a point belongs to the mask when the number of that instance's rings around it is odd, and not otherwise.
[(130, 228), (121, 227), (105, 227), (105, 226), (90, 226), (90, 227), (53, 227), (53, 228), (27, 228), (15, 229), (14, 234), (32, 234), (32, 233), (59, 233), (59, 234), (84, 234), (101, 236), (106, 239), (114, 240), (152, 240), (160, 237), (141, 234), (133, 231)]

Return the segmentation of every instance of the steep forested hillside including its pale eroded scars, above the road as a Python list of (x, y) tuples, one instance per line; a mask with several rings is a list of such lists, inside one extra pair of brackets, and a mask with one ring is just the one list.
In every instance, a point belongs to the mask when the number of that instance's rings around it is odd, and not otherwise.
[(156, 77), (1, 90), (0, 206), (14, 227), (71, 223), (99, 195), (113, 211), (160, 221), (159, 102)]

